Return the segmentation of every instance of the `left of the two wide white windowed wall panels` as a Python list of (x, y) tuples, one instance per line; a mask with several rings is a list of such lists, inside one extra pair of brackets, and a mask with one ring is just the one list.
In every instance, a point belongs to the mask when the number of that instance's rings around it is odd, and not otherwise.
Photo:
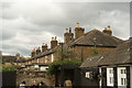
[(107, 68), (107, 86), (113, 87), (113, 68)]

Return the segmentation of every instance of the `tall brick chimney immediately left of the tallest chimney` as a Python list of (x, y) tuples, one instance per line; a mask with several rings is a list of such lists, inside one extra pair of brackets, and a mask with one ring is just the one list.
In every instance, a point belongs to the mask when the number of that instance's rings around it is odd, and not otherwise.
[(74, 40), (74, 33), (72, 33), (72, 28), (66, 29), (66, 33), (64, 33), (64, 43), (68, 43)]

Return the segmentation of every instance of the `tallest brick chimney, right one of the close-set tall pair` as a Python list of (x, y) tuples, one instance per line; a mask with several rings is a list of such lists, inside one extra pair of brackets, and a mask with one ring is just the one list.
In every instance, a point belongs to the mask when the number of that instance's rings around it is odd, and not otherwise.
[(77, 40), (78, 37), (82, 36), (85, 33), (85, 29), (79, 26), (79, 23), (76, 23), (76, 28), (75, 28), (75, 40)]

